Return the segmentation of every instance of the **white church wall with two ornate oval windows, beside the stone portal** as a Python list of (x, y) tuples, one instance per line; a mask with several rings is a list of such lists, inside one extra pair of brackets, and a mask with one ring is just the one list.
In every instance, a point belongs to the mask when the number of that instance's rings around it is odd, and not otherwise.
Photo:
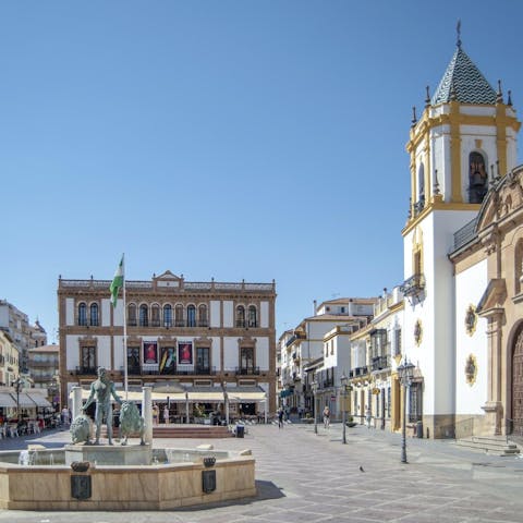
[[(488, 283), (487, 260), (483, 260), (455, 277), (455, 392), (457, 414), (484, 414), (482, 405), (487, 401), (487, 320), (477, 318), (472, 336), (466, 332), (465, 315), (471, 305), (479, 302)], [(473, 385), (465, 379), (469, 355), (477, 361), (477, 376)]]

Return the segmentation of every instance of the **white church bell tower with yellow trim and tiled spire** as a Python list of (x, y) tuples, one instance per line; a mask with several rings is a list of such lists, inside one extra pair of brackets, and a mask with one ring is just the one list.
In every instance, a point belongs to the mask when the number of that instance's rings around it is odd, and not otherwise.
[[(474, 226), (490, 185), (516, 165), (520, 122), (511, 94), (487, 82), (460, 34), (438, 87), (413, 120), (406, 150), (411, 194), (404, 248), (404, 349), (416, 365), (411, 399), (430, 437), (446, 437), (455, 412), (454, 234)], [(416, 392), (416, 384), (418, 391)], [(417, 394), (417, 396), (416, 396)]]

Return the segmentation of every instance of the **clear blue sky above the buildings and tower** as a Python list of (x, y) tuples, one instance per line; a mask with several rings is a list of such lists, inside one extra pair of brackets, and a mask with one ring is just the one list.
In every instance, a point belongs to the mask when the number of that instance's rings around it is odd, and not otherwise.
[[(412, 106), (455, 49), (523, 104), (523, 3), (0, 3), (0, 297), (169, 269), (313, 301), (403, 280)], [(520, 157), (521, 162), (521, 157)]]

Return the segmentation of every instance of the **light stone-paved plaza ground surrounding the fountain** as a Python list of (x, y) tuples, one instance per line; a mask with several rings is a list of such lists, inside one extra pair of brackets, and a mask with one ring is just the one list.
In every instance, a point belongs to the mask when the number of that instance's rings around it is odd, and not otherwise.
[[(69, 433), (37, 438), (61, 446)], [(499, 458), (451, 441), (408, 439), (400, 463), (398, 435), (363, 426), (314, 434), (309, 425), (250, 426), (245, 438), (161, 439), (156, 447), (252, 449), (258, 496), (243, 501), (169, 512), (0, 511), (0, 520), (37, 523), (314, 523), (314, 522), (523, 522), (523, 459)], [(0, 448), (25, 448), (20, 439)]]

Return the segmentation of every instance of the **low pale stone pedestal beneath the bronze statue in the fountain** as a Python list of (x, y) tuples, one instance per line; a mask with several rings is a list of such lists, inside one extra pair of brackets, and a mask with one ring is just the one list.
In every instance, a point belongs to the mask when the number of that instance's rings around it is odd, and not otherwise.
[(73, 461), (89, 461), (98, 465), (150, 465), (150, 445), (66, 445), (65, 464)]

